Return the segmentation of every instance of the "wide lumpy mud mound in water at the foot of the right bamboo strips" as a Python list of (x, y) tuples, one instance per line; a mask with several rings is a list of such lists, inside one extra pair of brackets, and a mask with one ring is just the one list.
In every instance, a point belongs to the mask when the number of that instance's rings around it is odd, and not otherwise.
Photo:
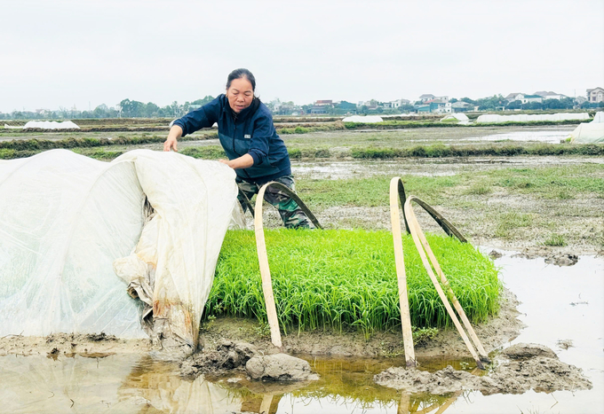
[(380, 386), (430, 394), (447, 394), (464, 389), (481, 391), (482, 394), (522, 394), (529, 389), (552, 392), (592, 388), (592, 383), (580, 369), (560, 362), (549, 348), (517, 344), (508, 349), (496, 360), (499, 363), (497, 368), (482, 377), (448, 366), (433, 373), (389, 368), (377, 374), (374, 380)]

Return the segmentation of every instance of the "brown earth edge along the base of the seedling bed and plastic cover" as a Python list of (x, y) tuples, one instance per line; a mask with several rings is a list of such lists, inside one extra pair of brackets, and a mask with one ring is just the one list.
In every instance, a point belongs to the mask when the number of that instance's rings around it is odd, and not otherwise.
[[(478, 324), (474, 330), (482, 340), (482, 345), (490, 352), (518, 336), (523, 326), (516, 316), (518, 301), (513, 293), (504, 290), (500, 311), (497, 317), (487, 324)], [(246, 342), (271, 355), (279, 352), (302, 355), (332, 356), (399, 356), (403, 355), (401, 332), (375, 332), (366, 339), (362, 332), (287, 332), (282, 336), (282, 349), (271, 344), (270, 333), (265, 325), (241, 318), (219, 318), (206, 322), (202, 326), (200, 348), (216, 349), (225, 340), (234, 343)], [(468, 351), (454, 328), (438, 332), (433, 340), (424, 341), (416, 346), (416, 356), (422, 358), (447, 356), (450, 358), (467, 357)], [(74, 335), (58, 333), (51, 336), (24, 337), (9, 335), (0, 338), (0, 355), (108, 355), (114, 353), (153, 352), (162, 355), (160, 349), (152, 347), (150, 340), (119, 340), (99, 335)]]

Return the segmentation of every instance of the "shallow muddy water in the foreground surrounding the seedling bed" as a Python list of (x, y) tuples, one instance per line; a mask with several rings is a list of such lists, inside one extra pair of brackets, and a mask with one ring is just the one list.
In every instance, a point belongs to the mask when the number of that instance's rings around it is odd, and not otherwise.
[[(489, 250), (490, 251), (490, 250)], [(512, 253), (497, 259), (502, 279), (522, 302), (528, 325), (513, 340), (554, 349), (584, 370), (592, 390), (484, 396), (464, 393), (406, 394), (379, 387), (373, 375), (391, 359), (325, 359), (306, 356), (321, 379), (275, 386), (242, 373), (183, 379), (179, 366), (147, 355), (6, 355), (0, 357), (0, 412), (226, 412), (268, 413), (597, 413), (604, 407), (604, 259), (582, 256), (574, 266)], [(453, 365), (473, 370), (471, 359), (420, 360), (428, 371)]]

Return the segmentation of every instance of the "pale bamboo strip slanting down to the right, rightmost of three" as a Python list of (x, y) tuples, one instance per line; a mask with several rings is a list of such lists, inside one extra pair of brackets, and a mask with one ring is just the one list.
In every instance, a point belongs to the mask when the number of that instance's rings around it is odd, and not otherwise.
[[(407, 199), (407, 201), (405, 201), (404, 213), (405, 213), (405, 217), (407, 219), (407, 223), (409, 225), (409, 230), (411, 231), (411, 237), (413, 238), (413, 242), (415, 243), (415, 245), (417, 247), (417, 253), (419, 254), (419, 257), (421, 258), (422, 263), (424, 264), (425, 270), (428, 272), (428, 276), (432, 280), (432, 283), (434, 285), (434, 288), (436, 289), (436, 292), (438, 293), (439, 297), (441, 298), (442, 304), (444, 305), (445, 309), (447, 309), (447, 312), (449, 313), (449, 316), (451, 317), (453, 324), (455, 324), (455, 327), (457, 328), (457, 332), (459, 332), (459, 335), (461, 335), (462, 340), (464, 340), (465, 346), (470, 351), (470, 354), (472, 354), (472, 357), (474, 358), (476, 365), (481, 370), (484, 370), (484, 365), (481, 362), (481, 358), (476, 353), (476, 350), (474, 349), (472, 343), (470, 342), (469, 338), (465, 334), (464, 328), (459, 323), (459, 319), (457, 318), (457, 315), (451, 308), (449, 300), (447, 299), (447, 295), (442, 291), (441, 284), (439, 283), (438, 279), (434, 275), (432, 266), (430, 265), (430, 262), (428, 261), (428, 258), (425, 254), (424, 245), (422, 244), (422, 242), (420, 241), (419, 236), (418, 236), (420, 233), (421, 234), (423, 234), (423, 233), (422, 233), (421, 227), (419, 226), (419, 223), (417, 223), (417, 217), (416, 217), (415, 213), (413, 212), (413, 208), (411, 207), (411, 201), (413, 201), (414, 199), (417, 199), (417, 198), (415, 196), (410, 196), (409, 199)], [(429, 246), (428, 246), (428, 248), (429, 248)]]

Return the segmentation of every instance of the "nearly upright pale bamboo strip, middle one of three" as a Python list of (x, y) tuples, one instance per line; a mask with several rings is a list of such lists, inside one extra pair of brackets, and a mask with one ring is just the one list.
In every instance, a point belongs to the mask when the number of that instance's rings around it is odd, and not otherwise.
[[(401, 177), (395, 176), (390, 180), (390, 223), (392, 223), (394, 242), (394, 263), (396, 265), (396, 277), (399, 285), (399, 303), (401, 306), (402, 344), (405, 348), (405, 363), (408, 367), (417, 365), (415, 350), (413, 348), (413, 332), (411, 328), (411, 316), (409, 314), (409, 297), (407, 293), (407, 275), (405, 273), (405, 260), (402, 252), (401, 238), (401, 215), (399, 214), (399, 197), (401, 207), (404, 207), (404, 190), (402, 189)], [(405, 225), (407, 223), (405, 222)]]

